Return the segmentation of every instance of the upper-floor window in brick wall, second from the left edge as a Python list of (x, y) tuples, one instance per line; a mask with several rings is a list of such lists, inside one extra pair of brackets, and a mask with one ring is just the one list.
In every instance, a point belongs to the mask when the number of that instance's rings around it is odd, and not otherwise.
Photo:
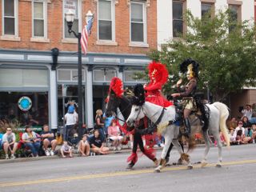
[(46, 0), (34, 0), (32, 4), (32, 36), (35, 38), (46, 38), (47, 34), (47, 2)]

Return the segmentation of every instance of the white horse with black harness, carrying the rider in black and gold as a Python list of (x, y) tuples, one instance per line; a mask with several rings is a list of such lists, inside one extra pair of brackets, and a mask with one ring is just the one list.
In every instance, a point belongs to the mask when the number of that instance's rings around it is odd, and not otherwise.
[[(155, 105), (150, 102), (142, 102), (142, 105), (133, 105), (130, 116), (127, 118), (126, 122), (128, 125), (132, 125), (135, 120), (140, 118), (150, 118), (151, 122), (159, 122), (158, 124), (165, 124), (166, 129), (162, 130), (162, 136), (165, 138), (165, 146), (162, 150), (161, 154), (161, 161), (166, 158), (167, 150), (170, 146), (170, 143), (173, 142), (174, 146), (178, 149), (179, 153), (182, 154), (181, 147), (178, 143), (178, 134), (179, 134), (179, 126), (176, 126), (175, 123), (169, 123), (171, 121), (175, 121), (175, 107), (169, 106), (167, 108), (163, 108), (162, 106)], [(228, 135), (228, 131), (226, 128), (226, 119), (229, 116), (228, 107), (223, 104), (222, 102), (214, 102), (211, 105), (208, 105), (210, 108), (210, 120), (209, 120), (209, 131), (213, 134), (215, 140), (218, 144), (218, 163), (216, 166), (222, 166), (222, 143), (219, 135), (219, 129), (224, 134), (226, 138), (227, 146), (230, 145), (230, 139)], [(162, 110), (164, 111), (162, 114)], [(159, 121), (159, 117), (162, 114), (162, 119)], [(159, 126), (158, 126), (159, 129)], [(203, 138), (206, 142), (206, 150), (202, 159), (202, 166), (206, 166), (207, 164), (207, 154), (210, 150), (210, 138), (208, 135), (208, 131), (202, 132)], [(190, 160), (187, 159), (188, 162), (188, 169), (192, 169), (193, 166), (190, 163)], [(160, 165), (155, 169), (156, 171), (160, 172), (160, 170), (165, 166), (164, 163), (160, 162)]]

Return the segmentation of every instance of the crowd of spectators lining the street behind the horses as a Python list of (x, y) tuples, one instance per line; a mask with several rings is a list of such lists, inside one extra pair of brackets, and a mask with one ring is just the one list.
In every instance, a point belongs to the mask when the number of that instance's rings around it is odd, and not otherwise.
[[(241, 114), (242, 118), (231, 118), (227, 123), (230, 130), (231, 145), (256, 142), (256, 104), (253, 107), (246, 105), (241, 110)], [(54, 154), (60, 154), (62, 158), (73, 157), (73, 147), (70, 139), (74, 138), (74, 135), (78, 137), (78, 114), (74, 106), (68, 107), (64, 119), (66, 125), (62, 136), (63, 141), (61, 142), (63, 145), (60, 150), (56, 150), (56, 146), (60, 143), (58, 143), (56, 134), (50, 130), (48, 125), (42, 126), (42, 131), (38, 133), (38, 131), (31, 129), (30, 123), (30, 125), (25, 126), (22, 134), (18, 134), (14, 125), (11, 124), (12, 122), (1, 119), (0, 149), (5, 154), (6, 159), (16, 158), (16, 153), (21, 147), (30, 150), (32, 157), (38, 157), (38, 155), (53, 156)], [(30, 122), (34, 122), (33, 119)], [(102, 110), (96, 110), (94, 129), (91, 132), (84, 133), (82, 140), (77, 140), (76, 145), (78, 146), (78, 153), (82, 157), (108, 154), (110, 152), (109, 146), (112, 146), (113, 150), (122, 150), (122, 144), (127, 144), (127, 138), (130, 138), (130, 144), (132, 144), (133, 140), (130, 136), (132, 134), (124, 131), (114, 114), (111, 117), (106, 117), (102, 114)], [(222, 134), (221, 138), (222, 143), (225, 144)], [(158, 140), (156, 143), (160, 146), (162, 141), (161, 139)]]

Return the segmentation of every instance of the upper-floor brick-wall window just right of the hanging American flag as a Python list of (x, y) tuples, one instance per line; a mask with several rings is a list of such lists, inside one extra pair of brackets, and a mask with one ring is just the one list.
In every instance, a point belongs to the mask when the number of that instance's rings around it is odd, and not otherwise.
[(98, 0), (98, 39), (114, 41), (114, 2)]

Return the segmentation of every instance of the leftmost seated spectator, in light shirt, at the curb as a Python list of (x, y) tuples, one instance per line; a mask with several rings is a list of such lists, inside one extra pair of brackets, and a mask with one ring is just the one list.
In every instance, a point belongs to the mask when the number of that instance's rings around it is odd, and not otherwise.
[(4, 134), (2, 136), (2, 146), (3, 146), (3, 150), (5, 151), (5, 154), (6, 154), (6, 159), (9, 158), (8, 150), (10, 150), (10, 158), (12, 158), (12, 159), (15, 158), (14, 154), (15, 154), (15, 151), (17, 150), (17, 146), (18, 146), (18, 143), (15, 141), (16, 141), (15, 134), (12, 133), (10, 127), (8, 127), (6, 129), (6, 134)]

